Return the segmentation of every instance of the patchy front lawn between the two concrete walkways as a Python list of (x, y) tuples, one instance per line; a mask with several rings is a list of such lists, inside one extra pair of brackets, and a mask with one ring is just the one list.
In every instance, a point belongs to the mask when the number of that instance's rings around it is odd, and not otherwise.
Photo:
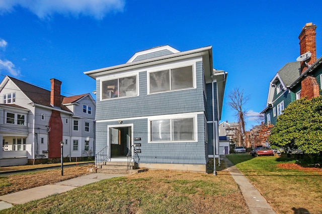
[(249, 213), (227, 170), (149, 170), (102, 180), (0, 213)]

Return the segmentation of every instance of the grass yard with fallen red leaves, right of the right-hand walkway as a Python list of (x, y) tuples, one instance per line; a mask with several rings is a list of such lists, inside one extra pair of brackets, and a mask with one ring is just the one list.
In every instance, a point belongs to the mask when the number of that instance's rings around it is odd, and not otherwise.
[(227, 158), (247, 176), (277, 213), (322, 213), (322, 169), (295, 160), (249, 154)]

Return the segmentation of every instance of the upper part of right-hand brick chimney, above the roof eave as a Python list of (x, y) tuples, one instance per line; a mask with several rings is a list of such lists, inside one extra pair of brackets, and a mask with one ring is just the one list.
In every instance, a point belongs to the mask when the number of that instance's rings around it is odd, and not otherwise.
[[(300, 40), (300, 55), (311, 52), (311, 57), (308, 59), (307, 63), (309, 65), (313, 64), (316, 61), (316, 46), (315, 46), (315, 29), (316, 25), (312, 23), (306, 23), (302, 29), (302, 32), (298, 36)], [(301, 73), (307, 69), (307, 66), (304, 62), (301, 62)]]

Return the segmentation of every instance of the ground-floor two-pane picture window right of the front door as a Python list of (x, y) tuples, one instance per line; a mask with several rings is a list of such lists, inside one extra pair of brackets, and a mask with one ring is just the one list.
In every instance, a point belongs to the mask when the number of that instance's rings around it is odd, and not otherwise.
[(193, 141), (194, 118), (151, 121), (151, 142)]

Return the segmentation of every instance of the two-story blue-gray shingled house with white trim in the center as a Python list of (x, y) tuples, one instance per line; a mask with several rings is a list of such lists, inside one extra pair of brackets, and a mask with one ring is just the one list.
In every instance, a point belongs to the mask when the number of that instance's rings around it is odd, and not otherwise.
[(96, 80), (97, 164), (206, 172), (218, 157), (227, 73), (213, 69), (211, 46), (156, 47), (85, 74)]

